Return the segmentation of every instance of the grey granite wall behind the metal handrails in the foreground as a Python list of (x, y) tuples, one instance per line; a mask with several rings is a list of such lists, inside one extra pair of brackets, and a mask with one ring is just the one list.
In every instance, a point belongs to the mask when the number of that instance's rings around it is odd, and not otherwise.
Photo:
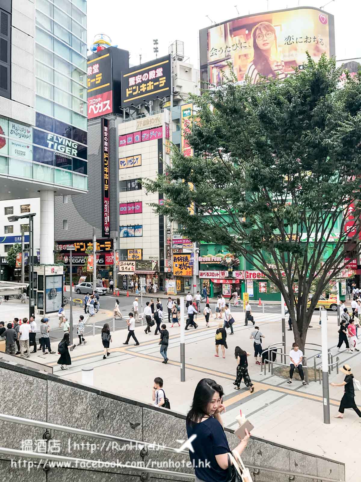
[[(0, 362), (1, 409), (7, 415), (47, 421), (67, 427), (103, 432), (127, 439), (150, 443), (161, 443), (168, 447), (178, 447), (177, 440), (187, 439), (185, 416), (169, 410), (156, 409), (142, 402), (128, 400), (96, 388), (85, 387), (60, 379), (56, 375), (31, 371), (23, 367)], [(41, 440), (44, 428), (33, 428), (9, 422), (0, 422), (0, 446), (22, 450), (23, 440)], [(52, 441), (57, 441), (59, 453), (70, 457), (126, 462), (141, 461), (140, 450), (120, 450), (120, 445), (103, 442), (99, 439), (84, 439), (55, 431)], [(233, 430), (226, 428), (231, 448), (238, 444)], [(92, 446), (81, 445), (89, 442)], [(55, 443), (55, 442), (54, 442)], [(35, 448), (35, 447), (34, 447)], [(92, 453), (91, 453), (92, 451)], [(39, 456), (41, 463), (46, 454)], [(188, 458), (185, 457), (188, 461)], [(302, 451), (252, 437), (244, 454), (245, 465), (251, 468), (255, 482), (288, 482), (289, 475), (272, 472), (276, 469), (314, 476), (314, 479), (298, 477), (295, 482), (322, 481), (322, 478), (345, 481), (345, 465)], [(149, 451), (143, 457), (145, 464), (156, 461), (171, 462), (184, 459), (184, 455), (170, 454), (161, 450)], [(0, 480), (22, 482), (135, 482), (140, 473), (119, 468), (107, 469), (39, 469), (25, 467), (11, 468), (10, 457), (0, 454)], [(261, 467), (253, 474), (253, 467)], [(170, 470), (192, 473), (191, 469)], [(257, 469), (256, 471), (257, 472)], [(169, 476), (154, 475), (151, 482), (171, 480)], [(184, 480), (181, 477), (174, 480)]]

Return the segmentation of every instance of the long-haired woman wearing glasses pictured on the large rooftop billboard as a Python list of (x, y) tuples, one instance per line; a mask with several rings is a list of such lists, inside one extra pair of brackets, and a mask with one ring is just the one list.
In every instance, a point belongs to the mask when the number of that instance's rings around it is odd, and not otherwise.
[(284, 61), (278, 56), (276, 30), (269, 22), (260, 22), (252, 29), (254, 56), (246, 69), (245, 77), (252, 84), (263, 80), (262, 77), (277, 77), (283, 80)]

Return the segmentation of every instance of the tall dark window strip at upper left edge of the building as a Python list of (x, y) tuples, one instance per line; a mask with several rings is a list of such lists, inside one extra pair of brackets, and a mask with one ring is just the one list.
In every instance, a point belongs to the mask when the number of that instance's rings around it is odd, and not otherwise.
[(11, 98), (11, 14), (0, 9), (0, 95)]

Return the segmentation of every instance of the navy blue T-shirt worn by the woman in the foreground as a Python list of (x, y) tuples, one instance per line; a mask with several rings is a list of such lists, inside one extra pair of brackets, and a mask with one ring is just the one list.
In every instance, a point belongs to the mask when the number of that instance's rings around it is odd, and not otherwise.
[[(209, 417), (203, 422), (196, 423), (193, 427), (187, 425), (186, 428), (188, 438), (193, 434), (197, 436), (192, 441), (194, 452), (189, 451), (195, 475), (205, 482), (226, 482), (228, 470), (219, 467), (216, 455), (227, 454), (231, 450), (219, 421), (214, 417)], [(210, 467), (207, 467), (206, 462)]]

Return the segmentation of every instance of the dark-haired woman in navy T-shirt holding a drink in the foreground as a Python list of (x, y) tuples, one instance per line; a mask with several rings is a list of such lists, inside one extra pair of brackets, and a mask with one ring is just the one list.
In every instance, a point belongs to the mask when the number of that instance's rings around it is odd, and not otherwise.
[[(203, 378), (198, 382), (193, 395), (191, 410), (187, 414), (188, 439), (193, 435), (193, 452), (189, 456), (195, 471), (196, 482), (227, 482), (230, 480), (228, 454), (231, 449), (223, 430), (221, 413), (223, 388), (214, 380)], [(241, 442), (234, 450), (241, 455), (249, 441), (245, 430)], [(231, 462), (232, 463), (232, 462)]]

